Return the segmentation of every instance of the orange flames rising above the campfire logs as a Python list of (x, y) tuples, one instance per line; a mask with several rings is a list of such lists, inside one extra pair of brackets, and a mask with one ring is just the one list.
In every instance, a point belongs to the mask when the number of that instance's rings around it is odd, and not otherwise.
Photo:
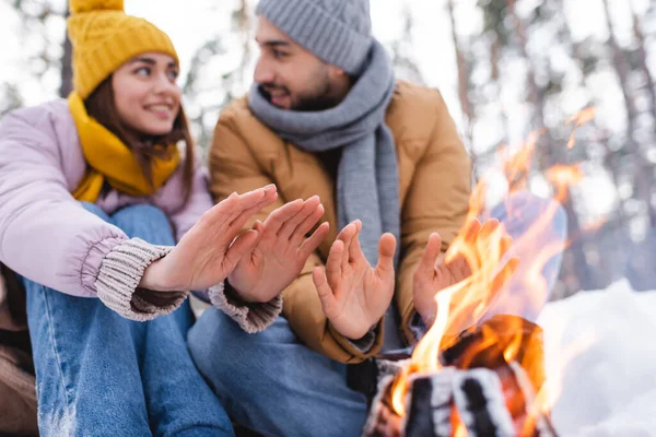
[[(591, 117), (594, 117), (594, 109), (588, 108), (572, 117), (567, 122), (576, 121), (575, 128), (577, 128), (589, 121)], [(540, 133), (531, 133), (526, 144), (504, 162), (504, 174), (511, 187), (525, 185), (530, 173), (530, 162)], [(555, 188), (554, 198), (563, 201), (569, 196), (570, 187), (582, 180), (583, 172), (579, 166), (554, 166), (547, 172), (546, 176)], [(442, 368), (438, 359), (440, 353), (450, 346), (457, 340), (459, 333), (467, 329), (473, 329), (480, 323), (487, 309), (513, 274), (519, 273), (517, 280), (524, 284), (529, 305), (541, 308), (547, 298), (549, 290), (547, 281), (542, 276), (542, 270), (553, 256), (564, 249), (566, 241), (552, 241), (546, 246), (538, 245), (540, 245), (540, 237), (552, 225), (553, 216), (560, 208), (559, 203), (550, 202), (547, 211), (535, 220), (520, 238), (515, 241), (511, 240), (513, 248), (516, 248), (518, 252), (532, 252), (535, 255), (530, 260), (522, 260), (525, 264), (519, 267), (519, 260), (515, 258), (505, 261), (504, 255), (511, 243), (508, 243), (503, 225), (487, 222), (481, 226), (480, 222), (477, 221), (484, 208), (487, 187), (488, 184), (483, 179), (475, 188), (465, 225), (450, 244), (444, 258), (445, 263), (464, 260), (470, 274), (436, 294), (437, 315), (435, 322), (417, 344), (409, 365), (401, 369), (391, 386), (391, 406), (399, 416), (406, 415), (406, 399), (410, 376), (418, 373), (438, 371)], [(516, 216), (522, 213), (520, 211), (513, 211), (509, 202), (506, 205), (508, 216)], [(515, 305), (517, 305), (517, 308), (507, 308), (508, 314), (513, 314), (515, 310), (517, 310), (515, 314), (519, 314), (519, 309), (525, 307), (527, 303), (518, 302)], [(507, 327), (514, 336), (504, 344), (503, 356), (506, 363), (515, 361), (522, 352), (525, 336), (520, 327), (522, 322), (520, 318), (508, 319), (508, 323), (517, 323), (517, 326)], [(478, 347), (484, 349), (490, 345), (490, 342), (497, 341), (493, 333), (488, 332), (490, 335), (485, 335), (485, 330), (482, 329), (481, 331), (484, 340)], [(468, 356), (472, 359), (476, 351), (468, 351)], [(530, 363), (531, 361), (542, 359), (542, 356), (525, 356), (523, 359)], [(465, 359), (461, 366), (467, 368), (467, 365), (468, 363)], [(540, 364), (540, 368), (543, 368), (543, 363)], [(537, 415), (536, 412), (552, 405), (554, 393), (557, 393), (553, 387), (552, 383), (549, 388), (539, 391), (539, 395), (530, 405), (532, 416)], [(532, 426), (535, 426), (535, 421), (532, 421)], [(456, 426), (455, 429), (460, 435), (466, 435), (465, 427)]]

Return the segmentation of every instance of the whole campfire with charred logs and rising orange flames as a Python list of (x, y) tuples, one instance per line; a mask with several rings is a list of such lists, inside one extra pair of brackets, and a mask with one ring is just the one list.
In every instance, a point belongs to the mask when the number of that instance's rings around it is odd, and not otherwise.
[[(587, 118), (584, 115), (581, 122)], [(511, 190), (526, 186), (538, 134), (504, 166)], [(558, 191), (555, 199), (564, 200), (582, 173), (576, 166), (560, 166), (551, 168), (547, 177)], [(544, 390), (541, 328), (507, 315), (482, 320), (514, 275), (515, 284), (526, 290), (524, 297), (530, 306), (539, 308), (547, 299), (543, 268), (566, 244), (558, 239), (540, 244), (558, 202), (551, 202), (522, 237), (508, 241), (503, 225), (478, 232), (483, 229), (479, 217), (487, 189), (484, 179), (477, 185), (465, 225), (443, 260), (466, 262), (470, 274), (435, 292), (437, 314), (426, 323), (430, 330), (412, 356), (383, 356), (364, 365), (376, 375), (368, 385), (358, 381), (371, 399), (364, 436), (557, 435), (549, 417), (550, 393)], [(508, 259), (505, 255), (511, 244), (515, 253), (524, 250), (535, 256)]]

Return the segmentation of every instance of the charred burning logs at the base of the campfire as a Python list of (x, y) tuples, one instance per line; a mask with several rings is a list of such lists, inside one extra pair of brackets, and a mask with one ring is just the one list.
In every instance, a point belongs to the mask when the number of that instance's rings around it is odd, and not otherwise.
[[(519, 331), (518, 331), (519, 330)], [(506, 351), (520, 334), (512, 359)], [(541, 329), (496, 316), (455, 339), (438, 371), (412, 374), (402, 411), (394, 402), (409, 361), (377, 358), (377, 386), (364, 436), (555, 436), (549, 416), (531, 412), (544, 381)]]

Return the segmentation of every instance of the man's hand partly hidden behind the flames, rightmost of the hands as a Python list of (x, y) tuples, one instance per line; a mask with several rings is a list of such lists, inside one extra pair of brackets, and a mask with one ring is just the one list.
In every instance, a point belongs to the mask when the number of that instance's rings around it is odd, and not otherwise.
[[(499, 226), (499, 221), (494, 218), (485, 221), (482, 225), (478, 220), (469, 224), (465, 235), (465, 245), (472, 248), (470, 262), (475, 263), (475, 269), (480, 265), (479, 262), (485, 257), (491, 244), (500, 245), (500, 258), (513, 245), (513, 239), (508, 235), (503, 235), (496, 239), (491, 238)], [(423, 257), (414, 271), (414, 308), (422, 317), (426, 327), (433, 324), (437, 314), (435, 295), (471, 275), (471, 268), (465, 257), (460, 255), (454, 259), (447, 258), (445, 261), (445, 258), (440, 255), (441, 248), (442, 238), (437, 233), (432, 234)], [(507, 282), (517, 267), (518, 260), (515, 258), (511, 259), (495, 275), (490, 286), (490, 293), (496, 293)]]

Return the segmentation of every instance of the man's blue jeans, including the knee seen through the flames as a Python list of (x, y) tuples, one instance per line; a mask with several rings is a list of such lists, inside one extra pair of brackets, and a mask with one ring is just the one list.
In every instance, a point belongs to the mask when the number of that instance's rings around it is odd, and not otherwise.
[[(513, 210), (522, 209), (523, 213), (508, 216), (506, 203), (489, 215), (500, 218), (516, 239), (551, 204), (528, 193), (515, 194), (511, 202)], [(565, 214), (557, 205), (551, 227), (535, 243), (542, 247), (565, 235)], [(526, 262), (535, 250), (513, 248), (507, 256)], [(543, 269), (549, 287), (558, 277), (560, 262), (557, 256)], [(526, 298), (522, 281), (516, 282), (511, 281), (497, 295), (487, 317), (514, 314), (537, 319), (548, 296), (536, 304)], [(247, 334), (223, 312), (209, 308), (189, 330), (188, 344), (201, 374), (238, 423), (267, 436), (361, 434), (366, 399), (347, 386), (347, 366), (303, 345), (284, 318), (278, 318), (263, 332)]]

